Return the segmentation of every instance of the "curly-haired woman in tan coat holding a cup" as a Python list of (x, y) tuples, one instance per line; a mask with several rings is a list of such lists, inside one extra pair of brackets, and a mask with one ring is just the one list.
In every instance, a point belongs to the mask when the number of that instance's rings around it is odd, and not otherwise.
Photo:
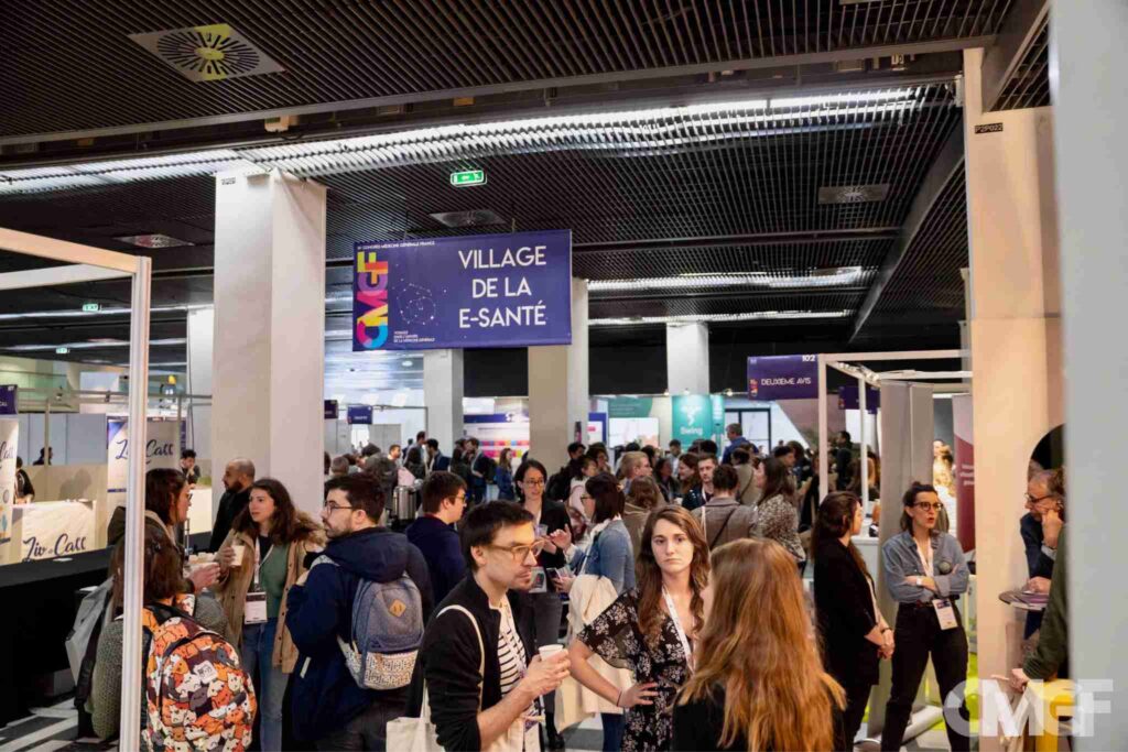
[(306, 572), (306, 555), (319, 551), (325, 533), (299, 512), (277, 480), (262, 478), (250, 501), (231, 523), (217, 558), (215, 590), (239, 647), (244, 669), (254, 678), (264, 752), (282, 749), (282, 696), (298, 648), (285, 628), (287, 594)]

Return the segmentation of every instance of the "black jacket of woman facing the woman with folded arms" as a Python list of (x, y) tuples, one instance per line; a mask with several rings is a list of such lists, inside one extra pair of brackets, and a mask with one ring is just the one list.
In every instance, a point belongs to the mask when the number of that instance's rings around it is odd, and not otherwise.
[(865, 636), (878, 623), (865, 574), (839, 540), (814, 552), (814, 609), (822, 663), (844, 685), (878, 683), (878, 646)]

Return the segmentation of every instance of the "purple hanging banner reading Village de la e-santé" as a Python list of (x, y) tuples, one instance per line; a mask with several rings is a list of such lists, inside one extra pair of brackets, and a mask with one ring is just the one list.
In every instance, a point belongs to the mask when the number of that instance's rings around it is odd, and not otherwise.
[(359, 242), (353, 351), (572, 343), (572, 231)]

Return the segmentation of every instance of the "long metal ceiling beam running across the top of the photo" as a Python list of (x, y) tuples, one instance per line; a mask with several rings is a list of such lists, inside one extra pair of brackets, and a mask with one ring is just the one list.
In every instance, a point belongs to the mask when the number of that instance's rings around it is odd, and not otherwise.
[(230, 125), (232, 123), (245, 123), (248, 121), (264, 121), (264, 120), (292, 116), (292, 115), (298, 115), (298, 116), (316, 115), (329, 112), (370, 109), (376, 107), (418, 104), (424, 101), (441, 101), (443, 99), (486, 97), (492, 95), (513, 94), (519, 91), (529, 91), (538, 89), (561, 89), (561, 88), (576, 87), (576, 86), (623, 83), (627, 81), (642, 81), (642, 80), (668, 78), (675, 76), (700, 76), (706, 73), (717, 73), (721, 71), (744, 71), (744, 70), (758, 70), (764, 68), (832, 63), (843, 60), (889, 57), (891, 55), (908, 55), (908, 54), (920, 55), (920, 54), (928, 54), (936, 52), (955, 52), (959, 50), (967, 50), (971, 47), (988, 47), (992, 45), (994, 41), (995, 41), (994, 35), (949, 38), (949, 39), (931, 39), (927, 42), (916, 42), (916, 43), (848, 47), (840, 50), (831, 50), (827, 52), (807, 53), (800, 55), (754, 57), (744, 60), (697, 63), (694, 65), (677, 65), (667, 68), (652, 68), (646, 70), (613, 71), (607, 73), (594, 73), (588, 76), (534, 79), (526, 81), (510, 81), (506, 83), (494, 83), (490, 86), (420, 91), (413, 94), (393, 95), (387, 97), (369, 97), (364, 99), (320, 103), (314, 105), (302, 105), (297, 107), (282, 107), (282, 108), (262, 109), (255, 112), (233, 113), (228, 115), (213, 115), (211, 117), (194, 117), (194, 118), (177, 120), (177, 121), (164, 121), (158, 123), (136, 123), (132, 125), (121, 125), (114, 127), (83, 129), (78, 131), (60, 131), (53, 133), (10, 135), (0, 138), (0, 147), (25, 144), (25, 143), (41, 143), (46, 141), (98, 139), (105, 136), (126, 135), (131, 133), (152, 133), (156, 131), (174, 131), (186, 127)]

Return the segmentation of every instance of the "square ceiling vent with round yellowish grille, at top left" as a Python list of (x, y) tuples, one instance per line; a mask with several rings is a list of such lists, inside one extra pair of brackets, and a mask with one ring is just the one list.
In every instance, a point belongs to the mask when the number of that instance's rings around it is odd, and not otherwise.
[(227, 24), (131, 34), (130, 38), (192, 81), (222, 81), (284, 70)]

